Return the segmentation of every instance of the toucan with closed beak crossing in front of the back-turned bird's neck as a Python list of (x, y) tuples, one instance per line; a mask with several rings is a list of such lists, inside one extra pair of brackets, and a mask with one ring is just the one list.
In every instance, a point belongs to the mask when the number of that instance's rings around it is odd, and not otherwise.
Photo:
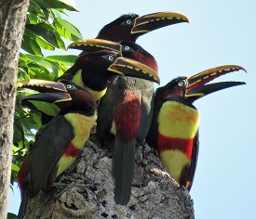
[[(71, 80), (75, 84), (84, 87), (95, 101), (100, 100), (105, 95), (111, 77), (116, 75), (138, 77), (154, 82), (159, 81), (157, 73), (149, 67), (128, 58), (121, 58), (120, 54), (115, 52), (115, 49), (108, 50), (108, 46), (113, 45), (112, 42), (97, 41), (97, 43), (94, 43), (91, 39), (88, 44), (94, 45), (91, 46), (93, 51), (79, 56), (74, 65), (61, 75), (57, 81), (61, 79)], [(106, 49), (99, 50), (97, 47), (102, 45)], [(114, 46), (118, 47), (118, 45)], [(113, 63), (115, 63), (115, 66), (112, 65)]]

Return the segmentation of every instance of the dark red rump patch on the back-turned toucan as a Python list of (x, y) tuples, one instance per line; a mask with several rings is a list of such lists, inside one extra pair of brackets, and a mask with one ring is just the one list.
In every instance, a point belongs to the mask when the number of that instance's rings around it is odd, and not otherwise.
[(141, 96), (134, 91), (127, 91), (114, 115), (116, 135), (128, 141), (138, 132), (141, 124)]

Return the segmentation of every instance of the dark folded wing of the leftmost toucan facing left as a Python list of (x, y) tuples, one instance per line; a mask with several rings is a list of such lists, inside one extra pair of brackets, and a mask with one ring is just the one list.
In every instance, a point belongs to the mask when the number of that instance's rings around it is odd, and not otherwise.
[(73, 138), (73, 127), (64, 116), (57, 115), (44, 125), (28, 155), (30, 196), (39, 193), (46, 185), (47, 177)]

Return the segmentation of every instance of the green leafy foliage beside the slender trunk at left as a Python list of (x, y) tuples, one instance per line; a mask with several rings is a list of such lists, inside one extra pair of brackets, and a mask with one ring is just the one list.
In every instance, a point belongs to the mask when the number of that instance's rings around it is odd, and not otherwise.
[[(76, 56), (44, 57), (43, 49), (66, 50), (64, 39), (76, 41), (82, 39), (79, 30), (61, 15), (66, 10), (77, 11), (74, 6), (63, 0), (30, 0), (25, 31), (22, 38), (18, 67), (18, 81), (32, 78), (54, 81), (69, 66), (74, 64)], [(14, 115), (14, 137), (11, 184), (17, 181), (20, 164), (28, 148), (34, 142), (34, 134), (41, 126), (41, 115), (36, 110), (28, 110), (20, 105), (20, 98), (33, 93), (29, 89), (18, 89)], [(47, 114), (56, 114), (56, 109), (47, 103), (36, 105)]]

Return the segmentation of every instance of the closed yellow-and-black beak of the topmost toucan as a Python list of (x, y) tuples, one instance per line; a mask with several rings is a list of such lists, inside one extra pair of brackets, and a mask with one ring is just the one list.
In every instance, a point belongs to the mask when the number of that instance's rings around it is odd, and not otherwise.
[(131, 34), (143, 34), (146, 32), (152, 32), (156, 29), (166, 27), (168, 25), (187, 22), (189, 19), (184, 15), (176, 12), (159, 12), (140, 16), (135, 19)]

